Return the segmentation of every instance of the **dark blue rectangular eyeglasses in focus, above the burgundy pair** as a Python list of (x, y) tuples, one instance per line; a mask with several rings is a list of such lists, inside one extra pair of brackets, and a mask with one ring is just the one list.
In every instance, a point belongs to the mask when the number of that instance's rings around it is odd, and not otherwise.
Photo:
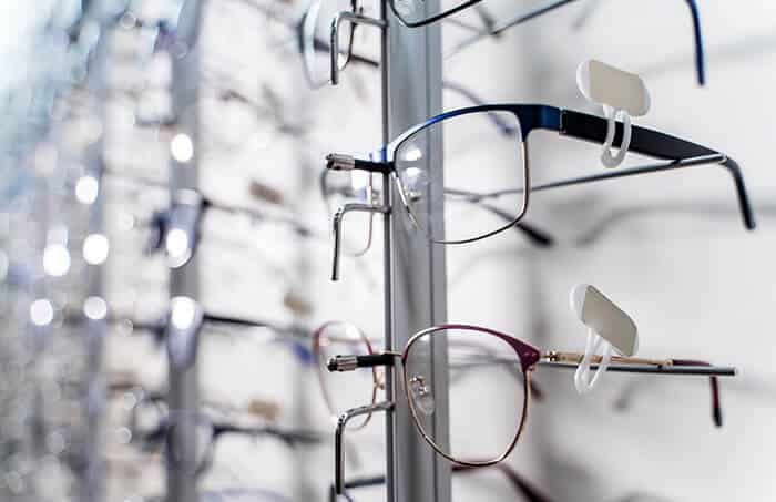
[[(493, 114), (512, 126), (512, 137), (493, 134), (488, 125), (488, 116)], [(541, 130), (603, 145), (607, 122), (595, 115), (549, 105), (490, 104), (464, 107), (436, 115), (410, 127), (365, 158), (329, 154), (326, 157), (327, 168), (391, 175), (410, 221), (437, 244), (472, 243), (506, 230), (523, 218), (529, 195), (533, 192), (697, 165), (722, 165), (727, 168), (735, 183), (744, 224), (748, 229), (755, 227), (741, 168), (724, 153), (663, 132), (633, 126), (629, 152), (660, 162), (531, 185), (528, 139), (532, 132)], [(614, 136), (615, 144), (620, 145), (622, 124), (616, 124)], [(443, 186), (439, 186), (439, 181), (432, 180), (429, 172), (429, 164), (439, 162), (445, 165)], [(486, 166), (487, 175), (477, 176), (474, 170)], [(492, 212), (483, 212), (472, 202), (494, 206), (509, 218), (507, 222), (494, 218)], [(429, 218), (433, 214), (431, 208), (442, 203), (443, 216), (440, 219)], [(348, 208), (341, 211), (347, 212)], [(387, 213), (390, 208), (357, 207), (350, 211)], [(339, 276), (341, 217), (335, 218), (334, 226), (333, 279), (336, 280)]]

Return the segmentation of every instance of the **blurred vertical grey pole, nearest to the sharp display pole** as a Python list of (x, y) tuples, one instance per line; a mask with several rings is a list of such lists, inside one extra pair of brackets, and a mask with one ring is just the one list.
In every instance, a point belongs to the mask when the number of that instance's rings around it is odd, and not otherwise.
[[(178, 19), (176, 38), (187, 43), (185, 54), (170, 54), (172, 59), (172, 106), (176, 120), (175, 134), (184, 134), (193, 145), (191, 158), (171, 156), (170, 189), (171, 197), (178, 189), (197, 188), (198, 171), (198, 85), (200, 85), (200, 51), (198, 40), (202, 22), (203, 1), (186, 0)], [(171, 201), (172, 203), (172, 201)], [(187, 296), (196, 299), (200, 296), (200, 264), (197, 254), (180, 268), (171, 269), (170, 295)], [(195, 337), (195, 339), (198, 337)], [(181, 455), (176, 462), (167, 464), (167, 502), (195, 502), (197, 498), (196, 480), (190, 467), (196, 458), (195, 421), (186, 419), (196, 412), (200, 404), (198, 379), (196, 360), (184, 368), (178, 368), (170, 361), (169, 407), (181, 410), (180, 420), (172, 429), (170, 438)], [(193, 417), (192, 417), (193, 418)]]

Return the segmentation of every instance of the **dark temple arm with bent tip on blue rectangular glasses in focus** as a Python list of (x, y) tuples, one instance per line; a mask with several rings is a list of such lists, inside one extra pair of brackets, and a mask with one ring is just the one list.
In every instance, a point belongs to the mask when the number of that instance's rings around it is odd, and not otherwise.
[[(558, 131), (565, 136), (575, 137), (579, 140), (590, 141), (603, 145), (606, 139), (607, 121), (600, 116), (590, 115), (588, 113), (574, 112), (571, 110), (561, 110)], [(614, 145), (620, 146), (623, 137), (623, 125), (617, 122), (615, 124)], [(690, 165), (702, 164), (719, 164), (727, 168), (733, 176), (733, 182), (736, 186), (736, 195), (738, 205), (741, 206), (744, 225), (748, 229), (755, 228), (755, 218), (749, 204), (749, 198), (744, 183), (738, 164), (725, 155), (724, 153), (714, 151), (707, 146), (682, 140), (681, 137), (670, 134), (653, 131), (646, 127), (633, 126), (631, 135), (631, 145), (629, 152), (639, 153), (670, 161), (662, 165), (650, 165), (644, 167), (633, 167), (624, 170), (615, 170), (611, 173), (595, 176), (585, 176), (583, 178), (570, 180), (560, 182), (560, 184), (548, 184), (545, 187), (564, 186), (570, 184), (586, 183), (591, 181), (605, 180), (611, 177), (630, 176), (634, 174), (652, 173), (658, 171), (667, 171), (676, 167), (685, 167)], [(550, 186), (553, 185), (553, 186)], [(542, 186), (532, 187), (533, 189), (542, 189)]]

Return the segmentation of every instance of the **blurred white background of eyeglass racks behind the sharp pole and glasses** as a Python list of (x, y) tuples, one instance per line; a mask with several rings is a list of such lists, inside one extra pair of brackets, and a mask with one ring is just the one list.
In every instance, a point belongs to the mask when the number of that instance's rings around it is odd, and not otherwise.
[[(333, 13), (349, 8), (326, 2), (320, 21), (307, 23), (324, 41)], [(2, 500), (165, 500), (165, 472), (188, 469), (175, 463), (169, 436), (193, 418), (200, 453), (186, 472), (202, 500), (327, 501), (333, 416), (384, 395), (381, 370), (323, 369), (338, 351), (384, 348), (380, 218), (348, 216), (343, 279), (329, 280), (333, 213), (363, 202), (370, 182), (321, 178), (326, 154), (381, 146), (380, 72), (368, 63), (379, 62), (379, 31), (354, 33), (367, 63), (351, 61), (338, 86), (312, 85), (328, 78), (327, 52), (310, 57), (300, 41), (315, 2), (203, 0), (194, 27), (191, 3), (0, 3)], [(483, 6), (498, 21), (540, 3)], [(575, 81), (580, 62), (599, 59), (644, 79), (652, 109), (636, 124), (738, 162), (757, 218), (747, 232), (728, 173), (707, 166), (537, 193), (527, 221), (552, 236), (550, 247), (511, 230), (446, 246), (452, 322), (581, 351), (585, 330), (568, 298), (585, 283), (634, 318), (641, 356), (738, 369), (721, 382), (722, 428), (702, 378), (612, 373), (579, 396), (571, 372), (538, 371), (542, 399), (504, 464), (547, 500), (776, 496), (767, 428), (776, 408), (767, 324), (776, 6), (698, 10), (704, 86), (680, 0), (579, 0), (462, 50), (487, 31), (480, 16), (469, 9), (441, 23), (442, 79), (452, 84), (445, 110), (472, 104), (473, 93), (601, 114)], [(446, 146), (474, 167), (464, 182), (498, 186), (510, 154), (498, 137), (472, 137)], [(529, 143), (534, 184), (602, 168), (600, 146), (551, 133)], [(171, 229), (192, 203), (170, 180), (190, 181), (187, 168), (204, 208), (198, 230), (176, 242)], [(196, 411), (165, 398), (170, 265), (190, 250), (205, 313)], [(514, 420), (500, 408), (504, 388), (451, 389), (462, 400), (492, 398), (478, 410), (486, 423)], [(384, 474), (382, 416), (357, 426), (348, 478)], [(487, 441), (489, 432), (455, 433)], [(498, 469), (456, 474), (452, 486), (455, 501), (528, 500)], [(385, 496), (379, 483), (351, 491), (359, 502)]]

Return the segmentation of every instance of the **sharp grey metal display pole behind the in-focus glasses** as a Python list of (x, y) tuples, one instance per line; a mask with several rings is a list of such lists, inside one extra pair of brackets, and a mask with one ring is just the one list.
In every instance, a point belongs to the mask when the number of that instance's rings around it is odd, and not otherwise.
[[(441, 32), (439, 24), (408, 29), (382, 2), (382, 14), (389, 28), (382, 40), (382, 113), (384, 140), (398, 135), (408, 126), (425, 121), (441, 111)], [(426, 8), (436, 11), (439, 0), (428, 0)], [(431, 142), (441, 142), (440, 137)], [(430, 151), (440, 151), (429, 143)], [(427, 166), (433, 185), (441, 187), (441, 158), (430, 158)], [(390, 187), (391, 189), (388, 189)], [(398, 201), (392, 194), (389, 176), (384, 177), (384, 191), (389, 203)], [(438, 197), (429, 196), (433, 201)], [(447, 278), (445, 248), (431, 245), (412, 228), (400, 206), (392, 205), (385, 225), (386, 267), (386, 346), (401, 349), (416, 331), (440, 324), (447, 317)], [(441, 214), (441, 204), (429, 211)], [(432, 217), (429, 221), (441, 222)], [(433, 348), (432, 367), (435, 399), (435, 437), (448, 441), (447, 347)], [(418, 433), (401, 391), (398, 372), (387, 378), (388, 395), (396, 408), (387, 417), (387, 489), (389, 502), (449, 502), (450, 465), (436, 455)]]

